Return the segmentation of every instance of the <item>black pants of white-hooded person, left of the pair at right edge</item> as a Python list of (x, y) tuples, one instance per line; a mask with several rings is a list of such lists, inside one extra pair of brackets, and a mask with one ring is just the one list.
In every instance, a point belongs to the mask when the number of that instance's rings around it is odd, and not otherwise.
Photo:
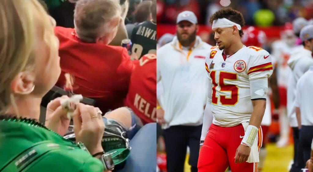
[(305, 161), (303, 160), (303, 148), (300, 143), (298, 127), (292, 127), (292, 130), (294, 138), (294, 163), (291, 166), (290, 172), (299, 172), (305, 167)]

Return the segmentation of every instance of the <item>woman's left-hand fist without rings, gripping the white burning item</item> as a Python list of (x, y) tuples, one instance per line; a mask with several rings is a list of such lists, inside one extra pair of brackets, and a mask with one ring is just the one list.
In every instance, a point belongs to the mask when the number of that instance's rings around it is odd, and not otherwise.
[[(56, 98), (52, 100), (47, 105), (47, 113), (46, 113), (46, 122), (45, 125), (49, 129), (52, 129), (54, 132), (60, 134), (61, 136), (64, 136), (66, 134), (67, 130), (69, 129), (69, 122), (70, 119), (67, 118), (66, 113), (67, 110), (63, 109), (61, 106), (61, 100), (68, 99), (67, 96), (62, 96), (59, 98)], [(73, 111), (74, 107), (73, 105)]]

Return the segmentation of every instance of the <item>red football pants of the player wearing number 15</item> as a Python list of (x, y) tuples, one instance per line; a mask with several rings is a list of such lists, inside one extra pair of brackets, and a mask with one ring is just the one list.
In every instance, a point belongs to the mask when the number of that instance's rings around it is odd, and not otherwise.
[[(244, 136), (242, 124), (219, 127), (211, 124), (199, 153), (198, 172), (224, 172), (228, 165), (232, 172), (256, 172), (258, 163), (235, 164), (235, 154)], [(262, 132), (257, 135), (258, 149), (262, 146)]]

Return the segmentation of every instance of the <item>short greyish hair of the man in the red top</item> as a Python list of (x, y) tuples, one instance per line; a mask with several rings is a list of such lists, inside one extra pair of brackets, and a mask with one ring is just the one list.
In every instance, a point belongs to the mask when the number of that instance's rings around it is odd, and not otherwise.
[(79, 0), (74, 12), (76, 34), (81, 40), (94, 43), (96, 38), (105, 36), (101, 34), (110, 32), (110, 21), (120, 16), (117, 0)]

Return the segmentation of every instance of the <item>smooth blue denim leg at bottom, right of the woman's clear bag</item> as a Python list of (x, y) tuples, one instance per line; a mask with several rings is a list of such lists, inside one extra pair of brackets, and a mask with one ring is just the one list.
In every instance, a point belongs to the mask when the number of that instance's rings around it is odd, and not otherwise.
[(131, 139), (131, 154), (116, 172), (156, 171), (156, 123), (144, 125)]

